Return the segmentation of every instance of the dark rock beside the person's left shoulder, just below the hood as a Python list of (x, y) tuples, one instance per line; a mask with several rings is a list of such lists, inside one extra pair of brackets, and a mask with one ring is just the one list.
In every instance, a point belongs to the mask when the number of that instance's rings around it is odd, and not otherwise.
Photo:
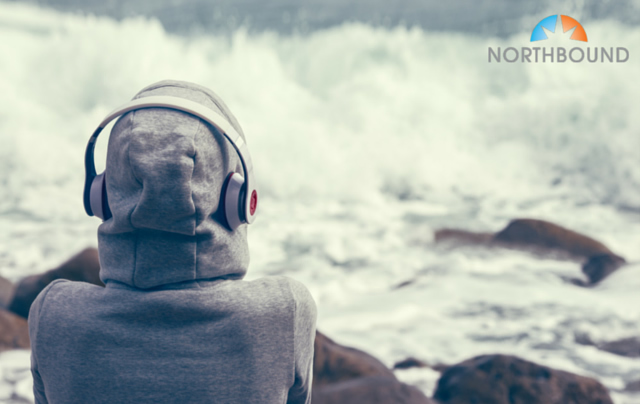
[(27, 318), (31, 303), (38, 296), (38, 293), (56, 279), (69, 279), (104, 286), (100, 281), (99, 272), (98, 250), (95, 248), (82, 250), (58, 268), (43, 274), (28, 276), (18, 282), (13, 299), (9, 304), (9, 310)]

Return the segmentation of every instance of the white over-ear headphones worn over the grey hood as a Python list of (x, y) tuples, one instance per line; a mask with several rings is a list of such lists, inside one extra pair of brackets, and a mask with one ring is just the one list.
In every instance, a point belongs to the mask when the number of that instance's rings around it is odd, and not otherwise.
[(219, 113), (197, 102), (171, 96), (143, 97), (128, 102), (107, 115), (93, 132), (84, 155), (84, 210), (87, 214), (89, 216), (95, 215), (103, 221), (111, 218), (111, 210), (107, 201), (105, 172), (96, 174), (93, 157), (98, 135), (109, 122), (119, 116), (145, 108), (168, 108), (186, 112), (215, 127), (229, 140), (238, 156), (240, 156), (244, 175), (237, 172), (229, 173), (222, 187), (222, 200), (227, 224), (231, 230), (235, 230), (241, 224), (253, 223), (258, 207), (258, 190), (253, 176), (251, 155), (244, 139), (236, 132), (229, 121)]

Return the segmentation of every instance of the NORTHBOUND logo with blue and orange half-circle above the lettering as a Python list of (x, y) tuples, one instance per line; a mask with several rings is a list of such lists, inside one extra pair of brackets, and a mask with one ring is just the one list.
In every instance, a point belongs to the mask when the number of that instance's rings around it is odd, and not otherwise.
[[(549, 39), (548, 34), (555, 34), (556, 27), (562, 26), (562, 32), (571, 32), (571, 36), (559, 38), (560, 41), (573, 41), (588, 43), (587, 32), (582, 24), (576, 19), (568, 15), (556, 14), (543, 18), (531, 31), (531, 39), (529, 42), (540, 43)], [(553, 41), (557, 43), (557, 41)], [(542, 42), (544, 44), (544, 42)], [(574, 42), (575, 45), (578, 43)], [(562, 46), (544, 47), (544, 46), (522, 46), (516, 48), (509, 46), (507, 48), (498, 47), (497, 49), (488, 48), (489, 63), (625, 63), (629, 60), (629, 50), (618, 46), (600, 46), (600, 47), (584, 47), (574, 46), (567, 49)]]

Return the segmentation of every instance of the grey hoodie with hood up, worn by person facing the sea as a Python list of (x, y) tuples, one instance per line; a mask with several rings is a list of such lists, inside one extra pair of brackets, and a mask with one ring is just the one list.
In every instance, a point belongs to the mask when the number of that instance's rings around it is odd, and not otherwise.
[[(163, 81), (224, 115), (210, 90)], [(221, 188), (240, 159), (215, 128), (146, 109), (114, 126), (113, 217), (98, 230), (106, 287), (59, 280), (29, 313), (36, 403), (309, 403), (316, 309), (300, 283), (243, 281), (247, 226), (229, 231)]]

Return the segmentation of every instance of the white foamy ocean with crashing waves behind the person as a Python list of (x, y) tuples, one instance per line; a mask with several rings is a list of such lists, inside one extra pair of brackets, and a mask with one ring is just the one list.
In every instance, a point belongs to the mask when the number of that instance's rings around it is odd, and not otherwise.
[[(97, 245), (82, 208), (91, 131), (147, 84), (188, 80), (222, 96), (251, 148), (262, 203), (248, 278), (302, 281), (321, 331), (389, 365), (515, 354), (640, 403), (623, 391), (638, 359), (577, 342), (640, 335), (640, 3), (476, 3), (308, 1), (301, 14), (293, 1), (220, 2), (216, 14), (204, 1), (0, 2), (0, 275)], [(236, 22), (221, 26), (225, 10)], [(533, 46), (554, 13), (589, 42), (556, 31), (544, 46), (624, 47), (629, 59), (489, 63), (489, 47)], [(576, 263), (433, 243), (439, 228), (519, 217), (588, 234), (630, 264), (580, 288), (562, 279), (582, 276)], [(28, 352), (0, 354), (0, 402), (33, 400), (28, 367)], [(438, 378), (396, 375), (428, 395)]]

